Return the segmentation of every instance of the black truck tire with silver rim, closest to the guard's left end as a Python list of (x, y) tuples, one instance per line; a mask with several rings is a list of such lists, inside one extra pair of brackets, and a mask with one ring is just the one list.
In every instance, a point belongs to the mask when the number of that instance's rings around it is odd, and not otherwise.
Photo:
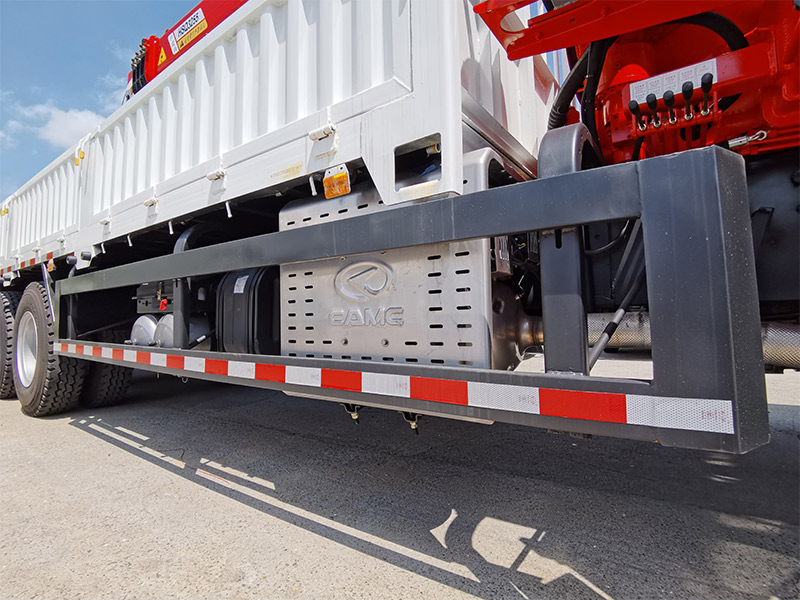
[(22, 293), (14, 318), (14, 388), (22, 412), (44, 417), (78, 404), (86, 362), (53, 350), (56, 332), (47, 291), (31, 283)]

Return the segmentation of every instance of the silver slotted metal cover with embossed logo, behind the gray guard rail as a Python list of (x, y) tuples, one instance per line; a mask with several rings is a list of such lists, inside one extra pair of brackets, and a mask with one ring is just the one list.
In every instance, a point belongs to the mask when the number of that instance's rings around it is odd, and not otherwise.
[[(298, 201), (281, 229), (375, 210), (391, 209), (369, 191)], [(489, 368), (489, 252), (477, 240), (282, 265), (282, 353)]]

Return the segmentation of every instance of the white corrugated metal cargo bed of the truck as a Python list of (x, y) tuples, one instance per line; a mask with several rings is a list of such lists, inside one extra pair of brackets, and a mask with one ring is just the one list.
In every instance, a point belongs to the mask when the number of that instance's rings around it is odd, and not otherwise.
[[(3, 202), (0, 271), (85, 267), (105, 241), (350, 161), (386, 204), (459, 194), (474, 132), (531, 175), (553, 79), (508, 61), (472, 5), (251, 0)], [(396, 189), (395, 149), (425, 139), (440, 179)]]

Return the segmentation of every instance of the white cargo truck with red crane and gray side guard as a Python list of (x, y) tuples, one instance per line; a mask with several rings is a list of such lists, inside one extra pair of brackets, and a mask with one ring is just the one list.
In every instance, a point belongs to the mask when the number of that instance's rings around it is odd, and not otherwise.
[(765, 368), (800, 368), (798, 15), (201, 2), (0, 205), (0, 397), (108, 406), (141, 369), (417, 433), (763, 445)]

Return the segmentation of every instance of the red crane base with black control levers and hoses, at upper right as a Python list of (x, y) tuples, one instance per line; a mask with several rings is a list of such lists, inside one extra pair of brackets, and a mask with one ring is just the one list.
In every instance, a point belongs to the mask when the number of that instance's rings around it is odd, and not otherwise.
[(791, 0), (536, 0), (475, 6), (508, 57), (567, 49), (572, 70), (549, 126), (581, 120), (606, 160), (727, 145), (800, 143), (800, 3)]

